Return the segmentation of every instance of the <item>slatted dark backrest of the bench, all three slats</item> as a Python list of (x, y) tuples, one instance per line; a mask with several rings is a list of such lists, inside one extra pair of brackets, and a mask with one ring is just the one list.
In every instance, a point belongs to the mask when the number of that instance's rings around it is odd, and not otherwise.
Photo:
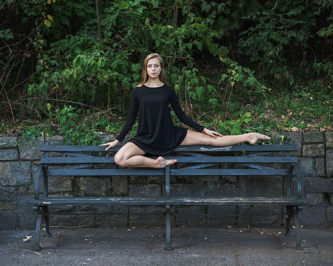
[[(297, 163), (297, 156), (290, 156), (291, 151), (297, 151), (296, 145), (234, 145), (228, 147), (213, 146), (179, 146), (174, 150), (178, 155), (170, 158), (177, 159), (177, 163), (195, 164), (180, 169), (166, 167), (166, 169), (135, 168), (135, 169), (82, 169), (93, 164), (115, 163), (114, 157), (91, 156), (84, 153), (108, 153), (117, 152), (121, 147), (113, 147), (105, 151), (106, 146), (54, 146), (43, 145), (41, 151), (45, 157), (41, 158), (43, 165), (73, 165), (62, 169), (48, 169), (48, 176), (210, 176), (210, 175), (246, 175), (246, 176), (285, 176), (288, 168), (276, 169), (258, 164), (265, 163)], [(62, 153), (71, 157), (49, 157), (49, 152)], [(198, 153), (198, 152), (204, 152)], [(273, 153), (279, 156), (266, 156)], [(286, 156), (280, 156), (280, 152), (286, 152)], [(237, 156), (234, 154), (238, 153)], [(248, 154), (250, 153), (250, 154)], [(217, 154), (217, 155), (216, 155)], [(224, 156), (221, 156), (223, 154)], [(244, 155), (245, 154), (245, 155)], [(157, 158), (150, 157), (148, 158)], [(168, 157), (165, 157), (166, 159)], [(202, 169), (208, 166), (232, 163), (245, 166), (250, 169)]]

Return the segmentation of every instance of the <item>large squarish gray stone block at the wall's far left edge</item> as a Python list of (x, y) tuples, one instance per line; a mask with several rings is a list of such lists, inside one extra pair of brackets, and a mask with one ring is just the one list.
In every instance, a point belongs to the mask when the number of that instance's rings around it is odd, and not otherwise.
[(21, 186), (31, 184), (30, 162), (0, 162), (0, 186)]

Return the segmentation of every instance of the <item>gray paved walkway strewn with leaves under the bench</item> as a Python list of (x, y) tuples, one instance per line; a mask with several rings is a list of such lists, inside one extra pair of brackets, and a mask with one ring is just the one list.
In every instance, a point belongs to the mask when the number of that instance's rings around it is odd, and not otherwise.
[[(281, 233), (280, 233), (281, 232)], [(282, 228), (171, 228), (173, 251), (164, 251), (165, 228), (60, 228), (41, 236), (40, 254), (33, 230), (0, 231), (0, 265), (333, 265), (333, 230)], [(26, 242), (23, 239), (32, 236)], [(16, 250), (15, 250), (16, 249)], [(21, 251), (19, 251), (21, 250)]]

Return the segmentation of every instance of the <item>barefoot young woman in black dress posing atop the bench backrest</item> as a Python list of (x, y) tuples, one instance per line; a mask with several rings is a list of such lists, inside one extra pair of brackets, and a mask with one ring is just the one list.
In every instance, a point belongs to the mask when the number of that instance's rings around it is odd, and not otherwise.
[[(173, 125), (169, 102), (179, 120), (198, 132)], [(114, 158), (117, 165), (165, 168), (166, 165), (174, 164), (177, 160), (166, 160), (162, 156), (155, 160), (143, 155), (146, 153), (167, 154), (179, 145), (222, 147), (232, 146), (245, 141), (254, 144), (259, 139), (270, 139), (270, 137), (260, 133), (223, 136), (186, 116), (174, 89), (166, 82), (164, 62), (159, 54), (150, 54), (145, 58), (141, 82), (132, 91), (130, 114), (116, 140), (100, 146), (108, 146), (106, 148), (107, 151), (122, 142), (132, 128), (138, 110), (137, 135), (130, 139), (115, 154)]]

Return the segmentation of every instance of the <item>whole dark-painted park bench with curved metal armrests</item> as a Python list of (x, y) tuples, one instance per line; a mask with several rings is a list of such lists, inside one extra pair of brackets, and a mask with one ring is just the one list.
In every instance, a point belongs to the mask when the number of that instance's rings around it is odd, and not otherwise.
[[(45, 224), (45, 235), (51, 236), (49, 216), (57, 214), (49, 211), (49, 206), (53, 205), (163, 205), (166, 207), (166, 211), (163, 213), (166, 217), (165, 250), (172, 250), (170, 245), (171, 205), (280, 205), (282, 206), (281, 211), (274, 215), (286, 215), (286, 236), (290, 235), (291, 219), (293, 219), (296, 227), (296, 248), (301, 249), (299, 211), (302, 210), (302, 205), (306, 203), (306, 200), (302, 195), (302, 180), (297, 166), (297, 156), (290, 156), (290, 152), (297, 150), (296, 145), (179, 146), (174, 151), (177, 152), (177, 155), (181, 156), (165, 156), (165, 158), (174, 158), (178, 160), (177, 163), (185, 163), (190, 166), (173, 169), (177, 166), (176, 163), (164, 169), (147, 167), (91, 169), (96, 164), (115, 163), (113, 156), (100, 157), (87, 155), (87, 153), (105, 154), (108, 152), (117, 152), (120, 149), (119, 146), (116, 146), (109, 151), (105, 151), (105, 147), (53, 146), (49, 145), (49, 143), (42, 146), (41, 150), (44, 152), (44, 157), (41, 158), (41, 164), (38, 166), (35, 176), (34, 199), (29, 201), (33, 205), (33, 209), (37, 211), (38, 216), (34, 250), (41, 250), (39, 240), (42, 222)], [(49, 157), (49, 152), (62, 153), (70, 157)], [(156, 159), (158, 156), (147, 157)], [(205, 169), (205, 167), (221, 163), (227, 163), (228, 166), (231, 164), (234, 167), (231, 169)], [(283, 165), (283, 168), (268, 167), (267, 164)], [(60, 165), (65, 165), (65, 167), (59, 169)], [(51, 167), (58, 168), (51, 169)], [(164, 176), (166, 181), (165, 197), (49, 197), (48, 177), (59, 176)], [(258, 195), (258, 197), (225, 197), (225, 195), (202, 198), (172, 197), (170, 196), (170, 176), (198, 176), (198, 178), (200, 176), (246, 176), (247, 178), (264, 176), (267, 177), (267, 182), (270, 182), (270, 178), (280, 177), (283, 179), (283, 195), (282, 197), (264, 197), (265, 195)], [(43, 177), (44, 181), (43, 197), (39, 195), (40, 177)], [(293, 185), (292, 193), (293, 177), (296, 177), (296, 185)], [(87, 215), (86, 212), (84, 214)], [(91, 214), (97, 215), (98, 213), (94, 212)], [(110, 214), (117, 215), (117, 213)], [(128, 215), (130, 214), (128, 213)]]

